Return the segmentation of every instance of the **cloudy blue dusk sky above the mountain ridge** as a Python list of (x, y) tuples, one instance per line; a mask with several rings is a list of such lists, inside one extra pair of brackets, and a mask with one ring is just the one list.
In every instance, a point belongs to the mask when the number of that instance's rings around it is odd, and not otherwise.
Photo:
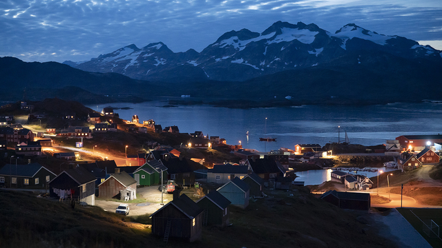
[(315, 23), (332, 33), (356, 23), (442, 50), (441, 0), (3, 0), (0, 56), (87, 61), (159, 41), (173, 52), (200, 52), (224, 32), (263, 32), (276, 21)]

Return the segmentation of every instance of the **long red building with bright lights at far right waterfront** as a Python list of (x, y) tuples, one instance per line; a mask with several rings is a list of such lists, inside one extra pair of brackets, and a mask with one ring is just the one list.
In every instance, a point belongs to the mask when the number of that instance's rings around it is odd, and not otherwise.
[(402, 135), (398, 136), (401, 149), (407, 151), (422, 151), (427, 146), (434, 146), (434, 143), (442, 143), (442, 135)]

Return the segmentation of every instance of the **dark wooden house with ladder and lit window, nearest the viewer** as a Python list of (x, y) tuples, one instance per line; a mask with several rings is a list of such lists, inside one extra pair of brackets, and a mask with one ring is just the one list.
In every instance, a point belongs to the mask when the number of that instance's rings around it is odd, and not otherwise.
[(164, 240), (180, 238), (193, 242), (202, 238), (204, 209), (182, 194), (151, 215), (152, 234)]

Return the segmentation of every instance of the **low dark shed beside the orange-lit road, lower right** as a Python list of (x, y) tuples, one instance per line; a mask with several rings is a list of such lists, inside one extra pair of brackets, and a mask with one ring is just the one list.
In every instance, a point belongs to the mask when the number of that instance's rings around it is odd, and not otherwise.
[(330, 190), (320, 198), (342, 209), (369, 210), (371, 205), (370, 194), (368, 193)]

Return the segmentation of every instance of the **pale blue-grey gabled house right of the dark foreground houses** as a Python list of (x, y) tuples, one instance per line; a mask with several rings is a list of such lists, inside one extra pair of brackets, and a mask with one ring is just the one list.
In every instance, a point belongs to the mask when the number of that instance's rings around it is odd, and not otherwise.
[(226, 183), (216, 189), (222, 196), (230, 200), (232, 205), (245, 209), (249, 206), (250, 189), (247, 183), (244, 183), (240, 178), (233, 178), (229, 183)]

